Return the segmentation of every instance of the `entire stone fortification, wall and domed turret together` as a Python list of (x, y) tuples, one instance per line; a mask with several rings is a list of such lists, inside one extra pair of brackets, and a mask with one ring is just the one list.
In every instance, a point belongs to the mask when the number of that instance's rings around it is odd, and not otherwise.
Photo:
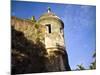
[(32, 20), (11, 17), (12, 74), (69, 71), (64, 23), (51, 12)]

